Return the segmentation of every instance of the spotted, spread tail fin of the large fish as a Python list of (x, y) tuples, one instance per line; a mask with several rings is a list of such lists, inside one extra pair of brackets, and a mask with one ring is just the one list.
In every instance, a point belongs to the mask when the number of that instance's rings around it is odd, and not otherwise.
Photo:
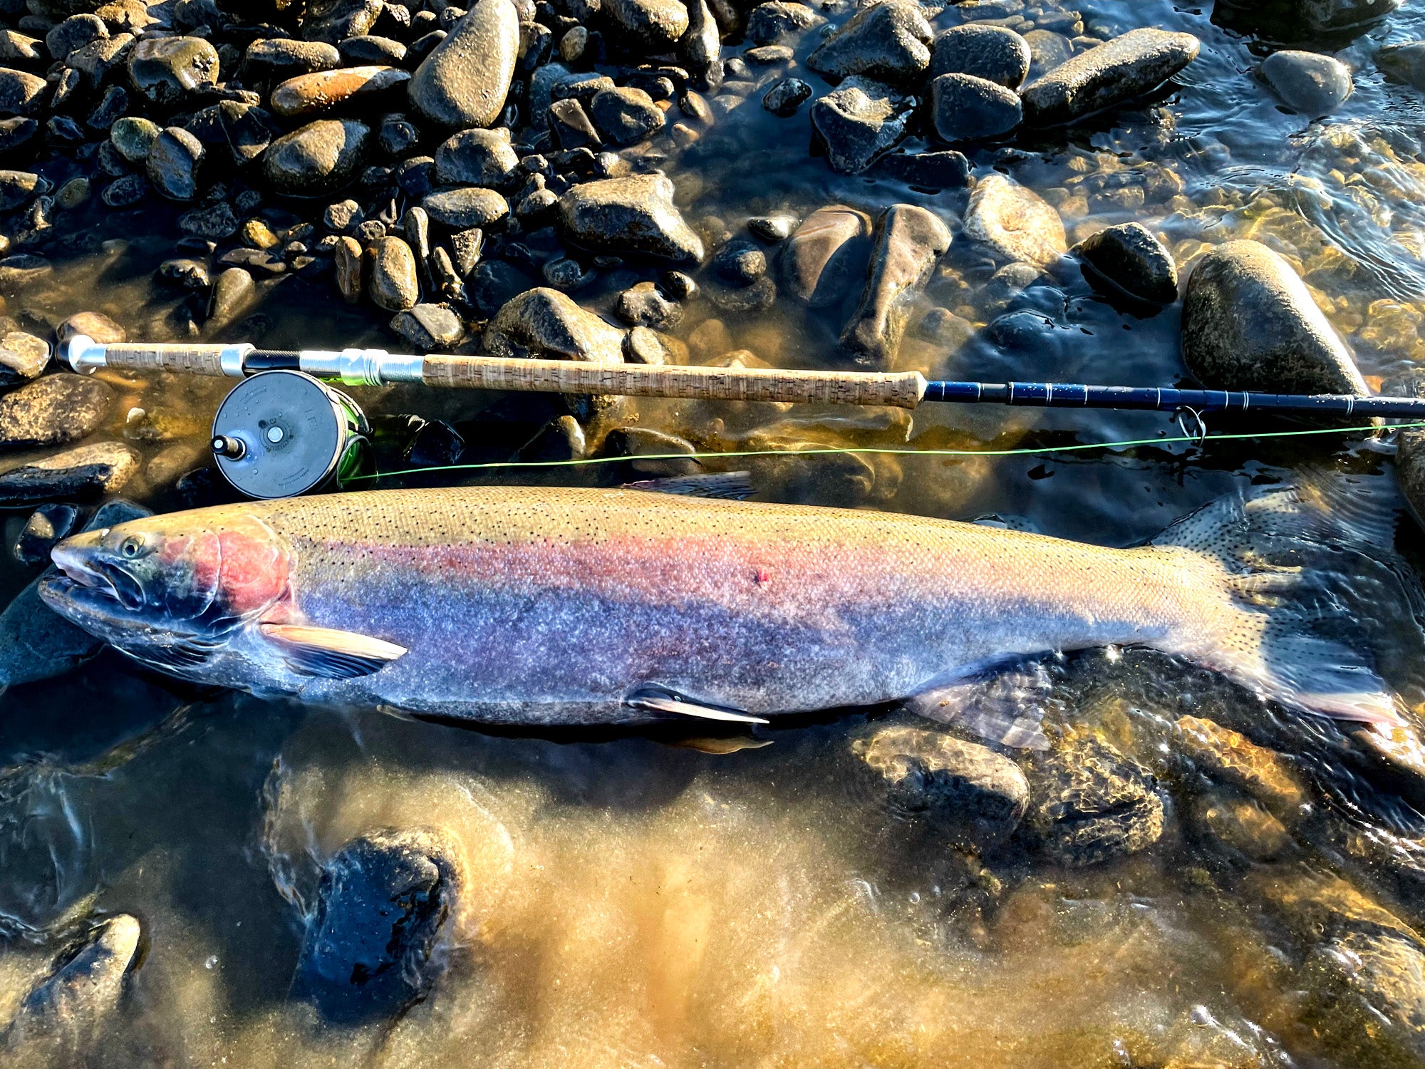
[(1387, 476), (1332, 475), (1223, 497), (1171, 525), (1149, 544), (1214, 560), (1227, 593), (1210, 646), (1180, 653), (1307, 713), (1404, 723), (1365, 653), (1372, 620), (1421, 636), (1419, 584), (1392, 547), (1398, 515)]

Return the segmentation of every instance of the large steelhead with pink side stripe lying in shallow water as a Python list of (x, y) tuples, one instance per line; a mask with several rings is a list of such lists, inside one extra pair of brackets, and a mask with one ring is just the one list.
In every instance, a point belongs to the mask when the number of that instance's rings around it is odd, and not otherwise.
[[(1107, 644), (1181, 656), (1298, 710), (1395, 721), (1362, 660), (1305, 630), (1291, 597), (1304, 572), (1263, 563), (1264, 539), (1340, 534), (1322, 523), (1295, 492), (1257, 492), (1107, 549), (634, 489), (372, 490), (80, 534), (54, 549), (43, 596), (184, 678), (487, 723), (888, 701), (949, 720), (1015, 657)], [(1000, 728), (1036, 744), (1033, 724)]]

